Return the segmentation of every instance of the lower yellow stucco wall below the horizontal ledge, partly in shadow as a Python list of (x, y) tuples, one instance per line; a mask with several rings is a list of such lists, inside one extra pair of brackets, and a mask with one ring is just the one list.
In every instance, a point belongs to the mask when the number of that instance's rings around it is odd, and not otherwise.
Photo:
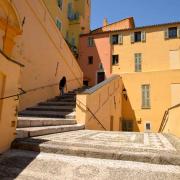
[[(134, 130), (144, 131), (151, 122), (151, 131), (157, 132), (164, 112), (171, 107), (171, 84), (180, 83), (180, 70), (121, 74), (128, 101), (123, 100), (122, 116), (134, 120)], [(150, 108), (141, 108), (141, 85), (150, 85)], [(140, 121), (140, 123), (138, 123)]]

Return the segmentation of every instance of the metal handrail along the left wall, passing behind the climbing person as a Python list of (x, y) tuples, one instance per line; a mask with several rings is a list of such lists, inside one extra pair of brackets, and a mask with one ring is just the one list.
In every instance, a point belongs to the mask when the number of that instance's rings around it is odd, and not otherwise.
[[(72, 81), (75, 81), (75, 80), (77, 80), (77, 79), (81, 79), (81, 78), (70, 79), (70, 80), (67, 81), (67, 83), (72, 82)], [(58, 85), (59, 85), (59, 83), (55, 83), (55, 84), (50, 84), (50, 85), (46, 85), (46, 86), (41, 86), (41, 87), (29, 89), (29, 90), (23, 90), (22, 88), (18, 88), (18, 89), (21, 91), (21, 93), (13, 94), (13, 95), (6, 96), (6, 97), (2, 97), (2, 98), (0, 98), (0, 101), (1, 101), (1, 100), (4, 100), (4, 99), (9, 99), (9, 98), (12, 98), (12, 97), (18, 97), (18, 99), (19, 99), (19, 96), (22, 96), (22, 95), (27, 94), (27, 93), (29, 93), (29, 92), (37, 91), (37, 90), (39, 90), (39, 89), (44, 89), (44, 88), (48, 88), (48, 87), (58, 86)]]

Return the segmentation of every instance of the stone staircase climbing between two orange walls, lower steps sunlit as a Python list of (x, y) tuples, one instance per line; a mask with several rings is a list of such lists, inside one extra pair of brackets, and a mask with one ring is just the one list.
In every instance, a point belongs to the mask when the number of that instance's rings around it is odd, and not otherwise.
[(76, 94), (84, 89), (70, 91), (19, 112), (17, 138), (84, 129), (84, 124), (76, 122)]

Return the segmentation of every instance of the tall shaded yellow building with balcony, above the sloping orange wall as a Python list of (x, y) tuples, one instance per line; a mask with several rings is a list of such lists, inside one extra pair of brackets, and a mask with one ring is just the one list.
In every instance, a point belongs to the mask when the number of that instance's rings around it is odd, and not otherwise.
[(43, 0), (64, 39), (73, 48), (90, 31), (91, 0)]

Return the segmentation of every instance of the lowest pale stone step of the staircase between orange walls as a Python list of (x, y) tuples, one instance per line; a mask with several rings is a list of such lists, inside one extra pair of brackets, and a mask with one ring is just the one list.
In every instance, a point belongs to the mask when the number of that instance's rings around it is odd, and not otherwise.
[(17, 138), (27, 138), (34, 136), (42, 136), (47, 134), (61, 133), (67, 131), (77, 131), (84, 129), (84, 124), (61, 125), (61, 126), (45, 126), (45, 127), (27, 127), (17, 128)]

